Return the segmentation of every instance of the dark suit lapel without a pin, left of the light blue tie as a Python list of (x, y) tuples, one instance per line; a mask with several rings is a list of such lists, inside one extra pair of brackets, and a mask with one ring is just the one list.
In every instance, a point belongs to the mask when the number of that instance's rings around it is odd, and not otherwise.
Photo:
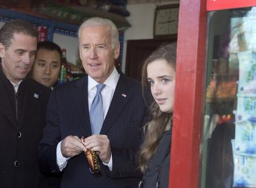
[(77, 86), (77, 90), (72, 91), (75, 101), (73, 105), (77, 109), (77, 113), (81, 113), (79, 116), (81, 117), (82, 125), (86, 128), (85, 136), (92, 135), (92, 130), (90, 126), (90, 115), (88, 109), (88, 76), (82, 77), (75, 83)]

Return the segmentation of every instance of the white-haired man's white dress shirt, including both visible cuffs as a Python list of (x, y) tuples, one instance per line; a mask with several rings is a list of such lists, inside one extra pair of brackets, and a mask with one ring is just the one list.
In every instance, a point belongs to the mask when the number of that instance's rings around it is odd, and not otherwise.
[[(102, 91), (101, 91), (101, 95), (102, 95), (102, 99), (103, 99), (103, 113), (104, 113), (104, 118), (106, 117), (106, 113), (108, 112), (108, 108), (110, 106), (110, 103), (112, 101), (113, 95), (115, 93), (115, 89), (117, 87), (117, 82), (119, 80), (119, 73), (117, 72), (117, 69), (114, 68), (113, 72), (111, 73), (111, 75), (108, 77), (108, 79), (106, 79), (106, 81), (104, 81), (104, 84), (106, 85)], [(92, 79), (92, 77), (90, 77), (88, 75), (88, 108), (90, 111), (91, 105), (92, 105), (92, 101), (96, 95), (96, 91), (97, 91), (97, 85), (98, 83)], [(61, 141), (62, 142), (62, 141)], [(65, 169), (66, 165), (67, 165), (67, 160), (69, 160), (69, 158), (65, 158), (62, 153), (61, 153), (61, 142), (59, 142), (59, 144), (57, 145), (57, 164), (59, 166), (59, 170), (63, 171), (63, 169)], [(110, 171), (112, 171), (112, 167), (113, 167), (113, 161), (112, 161), (112, 154), (110, 157), (110, 161), (108, 163), (103, 162), (104, 165), (108, 166), (108, 169)]]

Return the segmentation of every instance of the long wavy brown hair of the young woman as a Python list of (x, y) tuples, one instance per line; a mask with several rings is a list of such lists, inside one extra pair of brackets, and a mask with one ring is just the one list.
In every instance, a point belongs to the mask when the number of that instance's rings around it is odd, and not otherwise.
[[(141, 79), (142, 79), (142, 91), (143, 95), (146, 95), (148, 91), (148, 74), (147, 67), (150, 62), (154, 60), (166, 60), (172, 68), (176, 68), (176, 53), (177, 53), (177, 43), (172, 42), (169, 44), (162, 44), (157, 48), (144, 62), (142, 67)], [(159, 105), (156, 101), (152, 101), (150, 105), (150, 111), (152, 113), (152, 120), (144, 126), (145, 138), (144, 142), (141, 145), (139, 151), (139, 168), (141, 172), (145, 173), (148, 169), (150, 160), (156, 149), (160, 138), (165, 130), (170, 129), (172, 122), (172, 113), (164, 113), (160, 111)]]

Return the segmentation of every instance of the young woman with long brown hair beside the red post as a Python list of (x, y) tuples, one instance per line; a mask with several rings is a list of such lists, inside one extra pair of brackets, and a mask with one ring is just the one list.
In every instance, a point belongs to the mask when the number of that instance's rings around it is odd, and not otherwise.
[(168, 187), (176, 51), (176, 43), (164, 44), (143, 64), (143, 93), (150, 87), (154, 100), (152, 120), (144, 127), (145, 140), (139, 152), (139, 167), (143, 173), (139, 187)]

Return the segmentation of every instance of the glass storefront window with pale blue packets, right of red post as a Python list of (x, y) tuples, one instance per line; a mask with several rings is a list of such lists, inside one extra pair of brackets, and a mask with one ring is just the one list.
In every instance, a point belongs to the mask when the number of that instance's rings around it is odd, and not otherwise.
[(201, 188), (256, 187), (256, 7), (208, 20)]

